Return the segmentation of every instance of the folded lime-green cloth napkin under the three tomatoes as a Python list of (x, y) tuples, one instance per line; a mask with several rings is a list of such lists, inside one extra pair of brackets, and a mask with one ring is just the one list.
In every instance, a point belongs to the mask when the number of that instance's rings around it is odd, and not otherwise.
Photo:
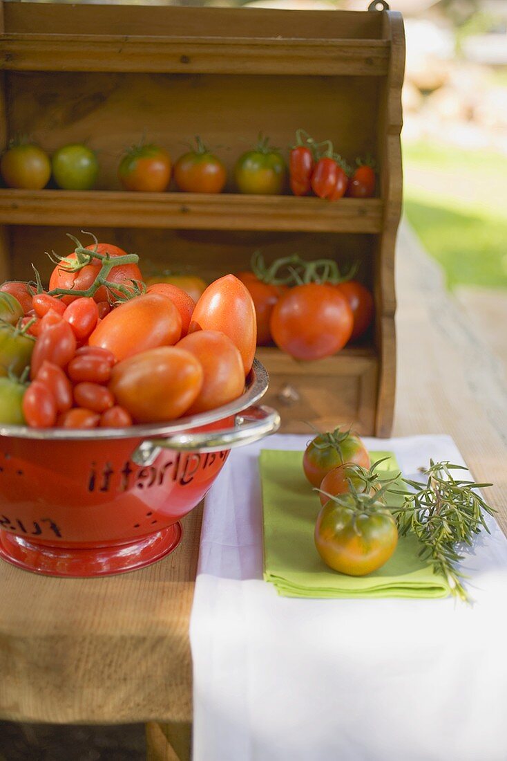
[[(399, 473), (391, 452), (370, 452), (381, 478)], [(303, 474), (303, 453), (261, 450), (259, 465), (264, 514), (264, 578), (284, 597), (447, 597), (445, 579), (417, 556), (420, 544), (401, 537), (382, 568), (367, 576), (333, 571), (315, 549), (313, 532), (320, 510), (316, 492)], [(401, 500), (401, 497), (395, 499)]]

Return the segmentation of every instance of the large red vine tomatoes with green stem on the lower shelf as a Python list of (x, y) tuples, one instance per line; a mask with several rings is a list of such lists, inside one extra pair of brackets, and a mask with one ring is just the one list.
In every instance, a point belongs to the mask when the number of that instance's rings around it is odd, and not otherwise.
[(273, 341), (296, 359), (335, 354), (372, 323), (371, 292), (355, 279), (343, 279), (333, 260), (304, 262), (290, 256), (266, 268), (256, 253), (252, 271), (237, 277), (255, 304), (258, 345)]

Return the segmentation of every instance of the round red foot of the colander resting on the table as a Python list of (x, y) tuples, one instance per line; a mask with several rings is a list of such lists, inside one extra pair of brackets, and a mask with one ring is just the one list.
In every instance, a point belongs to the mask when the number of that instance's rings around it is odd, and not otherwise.
[(182, 539), (176, 523), (135, 542), (107, 547), (65, 547), (31, 542), (0, 531), (0, 558), (17, 568), (46, 576), (93, 578), (135, 571), (173, 552)]

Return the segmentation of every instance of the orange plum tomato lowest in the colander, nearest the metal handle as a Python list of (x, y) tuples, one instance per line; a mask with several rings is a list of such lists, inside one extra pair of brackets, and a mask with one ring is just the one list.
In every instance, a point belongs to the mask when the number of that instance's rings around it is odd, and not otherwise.
[(115, 365), (109, 389), (135, 422), (164, 422), (189, 409), (203, 379), (194, 355), (176, 346), (160, 346)]

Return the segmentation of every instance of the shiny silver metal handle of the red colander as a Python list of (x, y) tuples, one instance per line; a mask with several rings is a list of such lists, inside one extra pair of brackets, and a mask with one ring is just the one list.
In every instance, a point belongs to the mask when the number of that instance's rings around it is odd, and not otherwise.
[(252, 444), (253, 441), (274, 433), (279, 427), (280, 416), (276, 409), (260, 404), (244, 409), (236, 415), (234, 428), (146, 439), (132, 452), (131, 460), (136, 465), (149, 466), (153, 465), (161, 449), (174, 449), (180, 452), (220, 452), (224, 449), (243, 447), (245, 444)]

